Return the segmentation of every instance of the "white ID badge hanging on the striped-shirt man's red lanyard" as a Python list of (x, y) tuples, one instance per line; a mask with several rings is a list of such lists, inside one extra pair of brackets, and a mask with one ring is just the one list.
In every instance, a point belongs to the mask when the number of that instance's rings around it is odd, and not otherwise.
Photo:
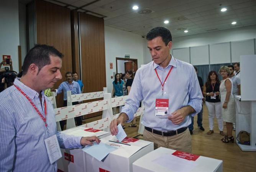
[(61, 149), (59, 147), (59, 142), (57, 140), (57, 136), (53, 135), (44, 140), (46, 150), (48, 153), (49, 160), (51, 164), (62, 157)]

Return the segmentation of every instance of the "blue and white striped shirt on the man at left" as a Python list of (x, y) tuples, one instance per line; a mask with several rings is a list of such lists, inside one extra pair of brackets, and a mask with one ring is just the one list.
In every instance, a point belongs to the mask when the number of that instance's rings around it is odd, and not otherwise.
[(44, 100), (47, 105), (46, 131), (42, 118), (28, 99), (11, 86), (0, 93), (0, 172), (56, 172), (57, 162), (50, 163), (44, 140), (57, 135), (61, 148), (80, 148), (81, 137), (64, 135), (56, 130), (53, 105), (41, 91), (42, 105), (38, 92), (16, 78), (14, 84), (30, 97), (44, 115)]

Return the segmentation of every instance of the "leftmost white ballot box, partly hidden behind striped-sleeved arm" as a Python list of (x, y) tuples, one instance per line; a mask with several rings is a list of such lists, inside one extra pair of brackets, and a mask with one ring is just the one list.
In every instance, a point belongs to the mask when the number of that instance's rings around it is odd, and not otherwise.
[[(92, 128), (77, 127), (62, 131), (67, 135), (104, 137), (109, 132)], [(95, 143), (96, 144), (96, 143)], [(85, 152), (82, 149), (61, 149), (62, 157), (57, 161), (57, 169), (64, 172), (86, 172)]]

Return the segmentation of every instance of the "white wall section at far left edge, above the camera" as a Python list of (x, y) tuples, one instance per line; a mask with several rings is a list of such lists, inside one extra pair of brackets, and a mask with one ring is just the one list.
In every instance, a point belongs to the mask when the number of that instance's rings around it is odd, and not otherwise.
[(18, 71), (18, 0), (1, 0), (0, 3), (0, 58), (2, 61), (3, 55), (11, 55), (13, 70)]

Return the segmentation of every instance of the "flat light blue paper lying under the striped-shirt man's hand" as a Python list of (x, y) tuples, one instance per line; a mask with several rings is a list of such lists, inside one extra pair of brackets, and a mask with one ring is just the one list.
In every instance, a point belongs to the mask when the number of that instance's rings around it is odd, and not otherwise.
[(99, 144), (94, 143), (93, 146), (85, 146), (83, 151), (90, 156), (96, 158), (98, 161), (102, 161), (109, 153), (115, 151), (117, 148), (108, 144), (100, 142)]

